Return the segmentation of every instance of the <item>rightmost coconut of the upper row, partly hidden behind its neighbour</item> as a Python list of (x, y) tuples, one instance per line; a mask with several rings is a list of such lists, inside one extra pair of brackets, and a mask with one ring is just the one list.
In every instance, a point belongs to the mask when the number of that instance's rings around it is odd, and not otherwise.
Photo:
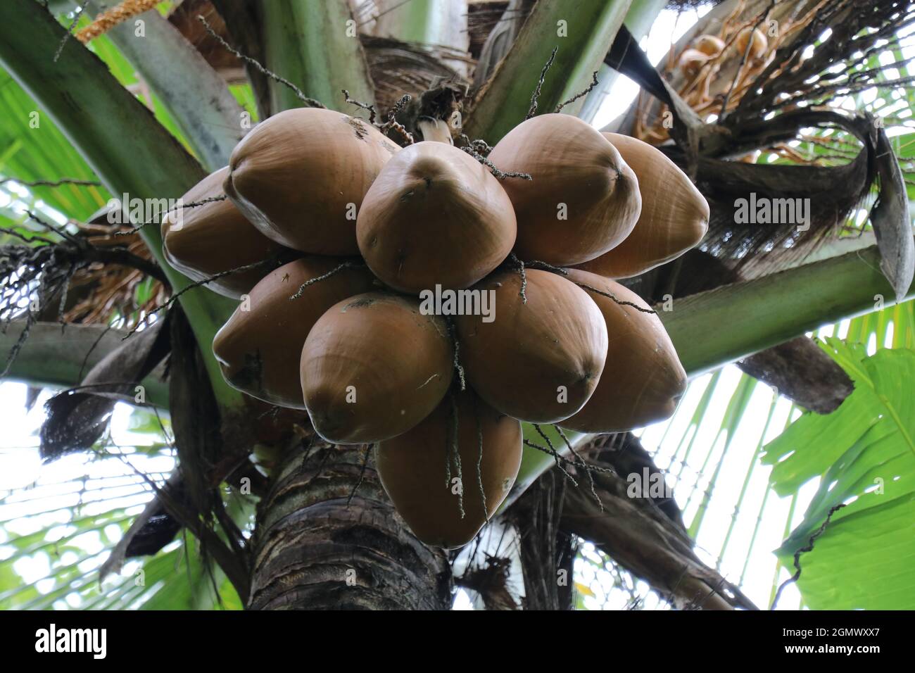
[(625, 241), (578, 268), (610, 278), (638, 276), (699, 244), (708, 229), (708, 202), (657, 147), (616, 133), (604, 136), (639, 178), (641, 214)]

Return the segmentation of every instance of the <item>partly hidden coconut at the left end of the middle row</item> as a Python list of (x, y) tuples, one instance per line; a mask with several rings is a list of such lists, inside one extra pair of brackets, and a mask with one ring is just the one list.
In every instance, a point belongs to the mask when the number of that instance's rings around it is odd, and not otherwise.
[(305, 408), (297, 365), (308, 331), (331, 306), (370, 290), (377, 281), (366, 268), (343, 269), (308, 286), (301, 297), (289, 298), (340, 262), (303, 257), (254, 286), (213, 340), (213, 353), (230, 385), (280, 407)]

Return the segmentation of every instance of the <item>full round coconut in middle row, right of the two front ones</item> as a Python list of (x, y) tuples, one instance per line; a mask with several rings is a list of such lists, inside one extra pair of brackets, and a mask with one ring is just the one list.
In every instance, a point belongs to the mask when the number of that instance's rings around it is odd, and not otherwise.
[[(470, 385), (503, 414), (532, 423), (572, 416), (594, 392), (607, 358), (607, 327), (585, 290), (528, 269), (475, 289), (491, 293), (492, 320), (457, 316), (458, 353)], [(486, 320), (490, 320), (487, 322)]]

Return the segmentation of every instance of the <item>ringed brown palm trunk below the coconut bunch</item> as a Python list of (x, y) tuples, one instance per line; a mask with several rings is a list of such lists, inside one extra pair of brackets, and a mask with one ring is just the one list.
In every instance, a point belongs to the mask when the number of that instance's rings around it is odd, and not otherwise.
[(444, 552), (396, 515), (364, 451), (320, 444), (277, 468), (258, 510), (249, 608), (450, 607)]

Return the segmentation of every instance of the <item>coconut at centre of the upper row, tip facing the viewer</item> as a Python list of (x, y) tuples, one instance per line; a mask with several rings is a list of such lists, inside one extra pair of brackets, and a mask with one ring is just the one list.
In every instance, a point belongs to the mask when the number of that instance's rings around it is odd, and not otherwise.
[(374, 274), (392, 288), (468, 288), (511, 252), (515, 215), (499, 180), (439, 142), (405, 147), (362, 201), (356, 234)]

